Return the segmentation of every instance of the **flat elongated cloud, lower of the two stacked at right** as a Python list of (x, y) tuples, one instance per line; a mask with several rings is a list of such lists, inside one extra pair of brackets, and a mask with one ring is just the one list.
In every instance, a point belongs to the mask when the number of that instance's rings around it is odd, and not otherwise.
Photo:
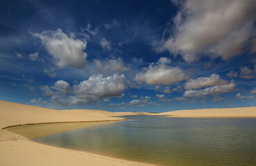
[(234, 82), (230, 82), (230, 84), (216, 85), (211, 86), (206, 89), (200, 90), (189, 90), (183, 93), (183, 97), (185, 98), (205, 98), (209, 95), (221, 95), (223, 93), (232, 92), (235, 89), (236, 84)]

